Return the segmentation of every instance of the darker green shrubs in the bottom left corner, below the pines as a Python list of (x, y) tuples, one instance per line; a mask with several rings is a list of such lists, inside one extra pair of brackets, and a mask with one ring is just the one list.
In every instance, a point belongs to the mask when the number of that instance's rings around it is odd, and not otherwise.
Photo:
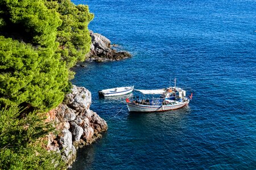
[(63, 169), (60, 154), (47, 151), (38, 140), (52, 125), (39, 114), (19, 114), (18, 107), (0, 110), (0, 169)]

